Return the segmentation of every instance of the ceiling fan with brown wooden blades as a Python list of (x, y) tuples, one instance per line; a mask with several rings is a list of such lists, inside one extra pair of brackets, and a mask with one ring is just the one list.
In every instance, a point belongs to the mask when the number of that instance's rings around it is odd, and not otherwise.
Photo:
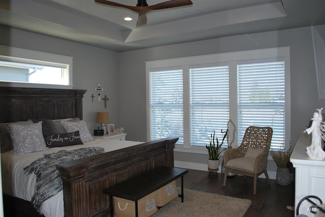
[(146, 0), (138, 0), (137, 6), (127, 6), (118, 4), (115, 2), (110, 2), (106, 0), (95, 0), (96, 3), (109, 5), (109, 6), (116, 6), (121, 8), (126, 8), (132, 11), (135, 11), (139, 14), (137, 26), (141, 26), (147, 23), (147, 13), (154, 10), (161, 10), (161, 9), (167, 9), (167, 8), (176, 8), (186, 5), (192, 5), (193, 3), (190, 0), (172, 0), (168, 2), (159, 3), (156, 5), (148, 6)]

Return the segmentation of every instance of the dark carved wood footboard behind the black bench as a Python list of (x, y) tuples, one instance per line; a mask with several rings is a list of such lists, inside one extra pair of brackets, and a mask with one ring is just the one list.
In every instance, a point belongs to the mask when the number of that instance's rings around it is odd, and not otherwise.
[(63, 182), (64, 216), (109, 211), (103, 189), (157, 166), (174, 166), (178, 138), (159, 139), (57, 165)]

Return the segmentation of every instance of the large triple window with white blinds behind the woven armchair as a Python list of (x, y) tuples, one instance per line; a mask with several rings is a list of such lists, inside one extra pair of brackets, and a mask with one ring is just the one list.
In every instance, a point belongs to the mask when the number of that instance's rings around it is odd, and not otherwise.
[(289, 48), (146, 62), (148, 140), (179, 137), (179, 151), (205, 153), (231, 119), (233, 146), (250, 125), (273, 128), (271, 148), (289, 146), (289, 65)]

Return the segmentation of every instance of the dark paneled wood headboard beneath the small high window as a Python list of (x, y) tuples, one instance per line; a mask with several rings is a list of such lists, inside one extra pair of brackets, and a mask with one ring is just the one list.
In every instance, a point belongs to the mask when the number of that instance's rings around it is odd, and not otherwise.
[(28, 119), (82, 119), (86, 90), (0, 87), (0, 123)]

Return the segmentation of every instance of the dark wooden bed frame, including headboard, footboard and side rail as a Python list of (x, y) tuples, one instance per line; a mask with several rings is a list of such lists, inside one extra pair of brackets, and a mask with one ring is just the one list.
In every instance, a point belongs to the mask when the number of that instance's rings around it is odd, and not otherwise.
[[(0, 87), (0, 123), (28, 119), (82, 119), (85, 90)], [(63, 183), (64, 216), (108, 216), (102, 190), (156, 166), (174, 166), (178, 138), (159, 139), (57, 165)], [(10, 216), (40, 216), (28, 201), (4, 195)]]

